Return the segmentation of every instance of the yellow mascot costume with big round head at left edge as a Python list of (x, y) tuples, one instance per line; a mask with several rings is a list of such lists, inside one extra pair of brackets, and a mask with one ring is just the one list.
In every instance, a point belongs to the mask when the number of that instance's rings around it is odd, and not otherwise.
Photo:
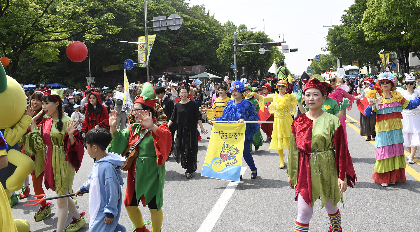
[[(26, 133), (32, 122), (32, 117), (25, 115), (26, 96), (25, 92), (15, 79), (6, 75), (2, 65), (0, 65), (0, 132), (8, 144), (7, 148), (7, 167), (0, 169), (0, 182), (5, 189), (6, 197), (0, 194), (0, 205), (2, 209), (2, 219), (0, 219), (0, 231), (13, 231), (6, 228), (17, 228), (18, 232), (29, 232), (30, 226), (27, 221), (14, 220), (16, 227), (10, 225), (10, 214), (3, 214), (3, 208), (11, 212), (9, 199), (10, 191), (18, 191), (23, 187), (25, 178), (34, 170), (34, 162), (25, 154), (19, 152), (17, 142)], [(16, 149), (17, 148), (17, 149)], [(6, 217), (6, 218), (5, 218)], [(13, 217), (12, 217), (13, 219)]]

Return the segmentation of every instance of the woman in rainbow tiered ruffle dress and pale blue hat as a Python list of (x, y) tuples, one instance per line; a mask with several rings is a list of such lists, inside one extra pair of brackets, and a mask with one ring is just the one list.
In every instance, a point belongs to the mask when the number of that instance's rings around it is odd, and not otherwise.
[[(365, 109), (367, 117), (376, 114), (376, 163), (372, 179), (383, 187), (395, 182), (405, 182), (404, 135), (402, 132), (402, 110), (412, 110), (420, 105), (420, 97), (407, 100), (396, 90), (391, 73), (381, 73), (376, 81), (378, 92), (383, 98), (381, 102)], [(367, 94), (366, 94), (367, 95)], [(375, 94), (376, 95), (376, 94)], [(367, 95), (368, 96), (368, 95)]]

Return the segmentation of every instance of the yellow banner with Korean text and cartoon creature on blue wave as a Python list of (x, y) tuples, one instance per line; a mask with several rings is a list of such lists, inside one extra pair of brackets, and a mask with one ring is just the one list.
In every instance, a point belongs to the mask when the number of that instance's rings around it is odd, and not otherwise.
[(214, 122), (201, 175), (239, 181), (244, 142), (245, 123)]

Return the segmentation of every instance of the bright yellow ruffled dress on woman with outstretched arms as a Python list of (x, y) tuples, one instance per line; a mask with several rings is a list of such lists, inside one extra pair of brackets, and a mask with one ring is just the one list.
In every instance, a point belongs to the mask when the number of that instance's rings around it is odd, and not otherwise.
[(264, 101), (272, 102), (268, 110), (274, 113), (273, 132), (268, 149), (283, 150), (289, 148), (290, 129), (293, 119), (291, 113), (296, 110), (296, 95), (286, 93), (280, 98), (278, 95), (268, 95)]

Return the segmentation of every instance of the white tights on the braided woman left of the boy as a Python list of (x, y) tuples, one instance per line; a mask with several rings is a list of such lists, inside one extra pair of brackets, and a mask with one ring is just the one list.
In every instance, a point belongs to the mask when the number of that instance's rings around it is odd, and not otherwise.
[[(66, 194), (68, 194), (68, 190), (64, 193), (64, 195)], [(57, 231), (63, 232), (65, 229), (64, 227), (66, 226), (68, 212), (70, 212), (76, 219), (80, 218), (80, 214), (76, 208), (76, 204), (74, 203), (73, 198), (71, 197), (58, 198), (57, 206), (58, 206)]]

